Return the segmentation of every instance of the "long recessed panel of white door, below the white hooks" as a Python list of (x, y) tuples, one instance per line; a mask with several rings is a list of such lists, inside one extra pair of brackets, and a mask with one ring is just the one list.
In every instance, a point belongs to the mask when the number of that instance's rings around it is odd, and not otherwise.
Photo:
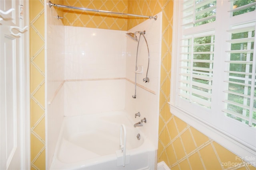
[(6, 155), (7, 167), (12, 160), (17, 148), (17, 108), (16, 108), (16, 39), (4, 37), (4, 60), (5, 60), (5, 90), (6, 90)]

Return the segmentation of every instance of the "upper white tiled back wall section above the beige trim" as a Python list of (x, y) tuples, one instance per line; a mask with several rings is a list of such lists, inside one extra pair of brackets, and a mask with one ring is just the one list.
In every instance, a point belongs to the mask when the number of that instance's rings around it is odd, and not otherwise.
[(64, 28), (66, 80), (125, 77), (126, 31)]

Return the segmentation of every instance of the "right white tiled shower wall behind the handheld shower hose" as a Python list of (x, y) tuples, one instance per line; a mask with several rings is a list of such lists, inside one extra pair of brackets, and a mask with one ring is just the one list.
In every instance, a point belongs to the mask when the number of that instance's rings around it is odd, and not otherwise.
[[(148, 51), (143, 37), (140, 38), (138, 50), (138, 63), (144, 67), (143, 74), (137, 74), (137, 83), (154, 91), (154, 94), (137, 86), (136, 99), (134, 95), (134, 84), (126, 81), (125, 109), (134, 119), (134, 123), (146, 117), (147, 123), (141, 128), (147, 134), (154, 146), (158, 147), (158, 118), (159, 118), (159, 93), (160, 93), (160, 64), (161, 64), (161, 42), (162, 42), (162, 12), (157, 14), (158, 19), (146, 20), (143, 23), (133, 27), (127, 32), (146, 31), (145, 37), (148, 41), (150, 64), (148, 69), (149, 82), (143, 82), (146, 77), (146, 68), (148, 66)], [(137, 34), (139, 38), (139, 34)], [(134, 81), (135, 59), (136, 59), (136, 41), (127, 39), (126, 57), (126, 78)], [(140, 111), (141, 116), (135, 118), (134, 113)]]

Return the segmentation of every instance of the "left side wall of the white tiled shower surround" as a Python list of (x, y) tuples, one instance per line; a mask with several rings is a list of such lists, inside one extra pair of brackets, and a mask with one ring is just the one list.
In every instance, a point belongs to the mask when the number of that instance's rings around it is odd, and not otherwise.
[[(46, 6), (46, 1), (45, 1)], [(46, 6), (47, 7), (47, 6)], [(64, 118), (64, 25), (54, 8), (45, 8), (45, 119), (46, 168), (52, 162), (58, 134)], [(58, 90), (59, 89), (59, 90)]]

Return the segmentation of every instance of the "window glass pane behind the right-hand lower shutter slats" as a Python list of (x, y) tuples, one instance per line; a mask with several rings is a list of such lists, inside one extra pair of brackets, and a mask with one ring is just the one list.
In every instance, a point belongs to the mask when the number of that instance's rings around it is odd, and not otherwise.
[[(226, 108), (231, 112), (228, 111), (226, 115), (245, 124), (249, 124), (250, 100), (254, 100), (250, 96), (252, 88), (252, 65), (255, 64), (253, 63), (254, 35), (255, 31), (231, 34), (231, 39), (235, 41), (230, 44), (229, 93), (226, 101)], [(256, 91), (256, 88), (254, 88), (254, 91)], [(255, 102), (253, 105), (255, 109)], [(255, 114), (255, 111), (252, 111), (251, 118), (254, 120), (256, 118)], [(251, 124), (256, 127), (255, 123)]]

